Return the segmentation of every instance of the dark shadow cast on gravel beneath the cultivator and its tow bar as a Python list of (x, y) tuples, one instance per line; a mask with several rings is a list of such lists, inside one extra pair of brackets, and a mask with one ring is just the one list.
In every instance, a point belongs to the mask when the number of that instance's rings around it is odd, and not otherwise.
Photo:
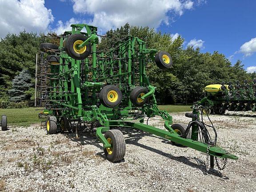
[[(204, 161), (196, 158), (196, 157), (185, 157), (185, 156), (172, 156), (171, 154), (165, 153), (163, 151), (160, 151), (158, 149), (146, 146), (144, 144), (140, 144), (138, 143), (138, 141), (140, 139), (142, 139), (142, 137), (144, 136), (150, 136), (150, 137), (155, 137), (155, 138), (160, 138), (162, 141), (162, 143), (167, 143), (167, 144), (172, 144), (172, 142), (170, 142), (169, 140), (166, 140), (162, 137), (159, 136), (154, 136), (148, 132), (143, 132), (141, 130), (138, 129), (132, 129), (132, 128), (118, 128), (116, 127), (116, 129), (119, 129), (121, 132), (123, 132), (125, 138), (125, 143), (126, 144), (134, 144), (136, 146), (139, 146), (141, 148), (147, 149), (149, 151), (155, 152), (159, 155), (168, 157), (172, 160), (176, 160), (180, 163), (183, 164), (187, 164), (193, 168), (197, 168), (200, 169), (204, 175), (213, 175), (213, 176), (218, 176), (222, 179), (226, 179), (228, 180), (229, 178), (227, 176), (224, 176), (221, 172), (217, 171), (217, 170), (210, 170), (210, 171), (206, 171), (205, 168), (205, 163)], [(95, 129), (91, 129), (90, 126), (81, 126), (81, 128), (79, 129), (79, 137), (76, 138), (76, 133), (72, 132), (72, 133), (67, 133), (64, 132), (62, 133), (64, 136), (66, 136), (68, 139), (76, 142), (79, 145), (86, 145), (86, 144), (91, 144), (94, 145), (100, 149), (102, 149), (103, 151), (103, 147), (100, 144), (100, 141), (96, 138), (95, 136)], [(127, 138), (128, 135), (128, 138)], [(106, 159), (106, 157), (104, 156), (104, 152), (98, 152), (96, 155), (101, 156), (102, 158)], [(116, 162), (117, 164), (120, 162), (124, 162), (125, 160), (121, 160), (119, 162)], [(192, 161), (196, 161), (196, 163), (192, 162)]]

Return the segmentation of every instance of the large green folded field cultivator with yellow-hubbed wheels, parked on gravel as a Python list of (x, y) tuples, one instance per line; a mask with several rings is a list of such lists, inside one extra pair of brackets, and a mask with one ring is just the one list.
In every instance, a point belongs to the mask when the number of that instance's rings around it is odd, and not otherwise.
[[(36, 66), (36, 106), (44, 106), (40, 118), (47, 118), (48, 134), (76, 132), (86, 126), (100, 124), (96, 137), (103, 143), (108, 160), (122, 160), (125, 140), (120, 128), (135, 128), (187, 146), (210, 157), (236, 160), (238, 157), (216, 147), (217, 135), (211, 140), (207, 125), (200, 121), (200, 106), (195, 106), (188, 126), (172, 124), (172, 116), (160, 111), (145, 68), (149, 60), (161, 70), (172, 67), (168, 52), (148, 49), (138, 37), (116, 39), (117, 46), (108, 52), (97, 52), (97, 28), (72, 24), (72, 31), (61, 36), (60, 46), (40, 45)], [(85, 28), (86, 32), (81, 32)], [(157, 74), (156, 74), (157, 75)], [(160, 116), (166, 130), (144, 124), (145, 117)], [(90, 126), (88, 126), (91, 128)], [(118, 127), (119, 129), (114, 129)], [(211, 126), (213, 128), (213, 126)], [(214, 129), (215, 130), (215, 129)], [(215, 132), (216, 133), (216, 132)]]

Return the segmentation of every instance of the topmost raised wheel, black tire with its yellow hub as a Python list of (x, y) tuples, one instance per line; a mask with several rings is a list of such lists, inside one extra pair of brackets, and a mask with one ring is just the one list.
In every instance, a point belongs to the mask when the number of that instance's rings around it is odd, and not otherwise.
[(76, 60), (83, 60), (87, 58), (92, 52), (92, 45), (88, 44), (83, 48), (78, 48), (87, 37), (83, 34), (72, 34), (65, 40), (65, 50), (68, 56)]

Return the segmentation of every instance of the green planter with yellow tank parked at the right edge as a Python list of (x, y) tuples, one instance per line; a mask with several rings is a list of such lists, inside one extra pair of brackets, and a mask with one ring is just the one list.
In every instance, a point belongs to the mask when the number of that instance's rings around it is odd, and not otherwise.
[(204, 98), (196, 104), (202, 105), (208, 114), (224, 114), (226, 110), (245, 112), (256, 110), (256, 80), (243, 84), (236, 81), (234, 85), (211, 84), (204, 88)]

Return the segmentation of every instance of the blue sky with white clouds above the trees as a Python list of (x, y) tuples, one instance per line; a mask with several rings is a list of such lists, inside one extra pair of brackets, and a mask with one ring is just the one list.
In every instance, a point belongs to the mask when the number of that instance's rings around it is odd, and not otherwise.
[[(35, 14), (36, 13), (36, 14)], [(255, 0), (8, 0), (0, 1), (0, 37), (26, 29), (58, 33), (88, 23), (104, 34), (125, 23), (185, 39), (202, 52), (218, 51), (256, 71)]]

